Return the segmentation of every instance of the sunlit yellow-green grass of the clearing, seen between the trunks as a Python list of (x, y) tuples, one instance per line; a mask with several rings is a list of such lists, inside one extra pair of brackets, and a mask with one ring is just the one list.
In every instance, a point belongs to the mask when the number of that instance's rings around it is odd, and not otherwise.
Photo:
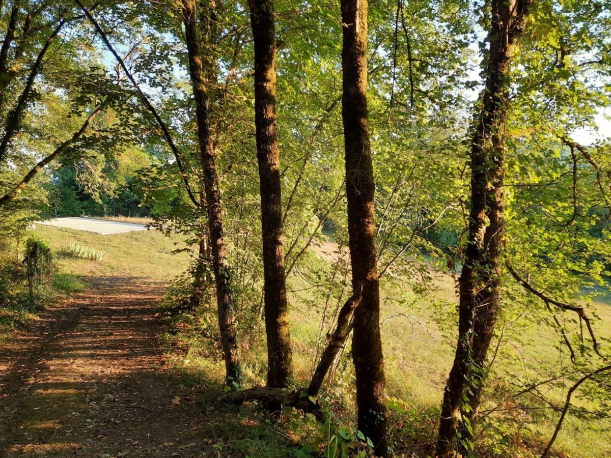
[[(142, 282), (167, 282), (180, 274), (189, 261), (188, 253), (172, 253), (174, 249), (182, 247), (178, 236), (167, 238), (158, 231), (103, 236), (64, 228), (40, 227), (38, 233), (54, 251), (59, 250), (62, 244), (76, 242), (108, 252), (103, 263), (72, 257), (59, 258), (59, 276), (54, 280), (54, 287), (61, 291), (78, 291), (78, 288), (86, 286), (82, 278), (94, 276), (128, 276), (137, 277)], [(313, 269), (329, 262), (327, 258), (312, 253), (307, 261)], [(76, 276), (75, 272), (79, 275)], [(307, 284), (297, 275), (290, 278), (288, 285), (295, 291), (289, 295), (295, 378), (303, 381), (310, 374), (321, 303), (312, 291), (299, 291)], [(434, 294), (427, 301), (415, 300), (414, 294), (400, 282), (385, 280), (381, 285), (381, 317), (396, 315), (382, 326), (387, 394), (403, 409), (401, 413), (390, 412), (392, 434), (395, 444), (400, 446), (398, 451), (422, 454), (423, 446), (434, 439), (435, 421), (453, 358), (452, 344), (444, 337), (445, 328), (439, 326), (436, 318), (455, 316), (455, 283), (447, 275), (438, 275), (434, 282)], [(601, 338), (611, 338), (609, 299), (607, 295), (595, 303), (600, 317), (595, 330)], [(438, 301), (441, 305), (433, 306)], [(521, 327), (527, 313), (535, 317), (535, 310), (539, 309), (533, 307), (532, 311), (526, 310), (519, 324), (508, 327), (505, 343), (500, 346), (501, 357), (487, 383), (489, 389), (487, 401), (481, 407), (483, 410), (494, 407), (497, 401), (503, 399), (503, 380), (512, 380), (512, 377), (522, 381), (538, 380), (557, 373), (558, 368), (554, 366), (559, 354), (557, 332), (546, 324)], [(409, 314), (417, 321), (398, 313)], [(569, 316), (562, 315), (561, 318)], [(503, 323), (509, 326), (512, 321), (513, 317), (502, 316), (499, 329)], [(295, 438), (299, 435), (296, 436), (296, 432), (287, 425), (270, 423), (265, 414), (250, 407), (240, 407), (236, 412), (219, 409), (215, 404), (215, 399), (222, 392), (224, 366), (218, 346), (210, 338), (217, 333), (214, 307), (197, 318), (187, 315), (174, 317), (170, 325), (170, 332), (166, 335), (167, 352), (178, 383), (185, 390), (200, 387), (202, 408), (218, 409), (210, 414), (208, 434), (211, 440), (218, 441), (219, 448), (222, 448), (219, 453), (297, 456)], [(454, 332), (453, 318), (448, 319), (447, 326)], [(245, 384), (264, 383), (266, 349), (263, 326), (258, 323), (253, 329), (242, 329), (242, 332)], [(345, 373), (338, 374), (334, 381), (332, 394), (340, 401), (338, 405), (342, 405), (340, 415), (351, 418), (354, 409), (351, 404), (354, 371), (349, 362), (345, 367)], [(551, 388), (546, 396), (560, 403), (565, 391), (566, 388)], [(595, 407), (579, 392), (574, 401), (576, 407)], [(503, 437), (492, 435), (494, 428), (486, 431), (480, 441), (485, 456), (533, 456), (536, 449), (549, 440), (557, 420), (557, 415), (547, 411), (543, 415), (535, 415), (516, 409), (513, 415), (507, 412), (498, 415), (495, 427)], [(610, 428), (609, 420), (587, 420), (569, 415), (555, 443), (555, 453), (577, 458), (611, 456), (611, 441), (608, 440)], [(507, 446), (502, 445), (503, 442), (507, 442)]]

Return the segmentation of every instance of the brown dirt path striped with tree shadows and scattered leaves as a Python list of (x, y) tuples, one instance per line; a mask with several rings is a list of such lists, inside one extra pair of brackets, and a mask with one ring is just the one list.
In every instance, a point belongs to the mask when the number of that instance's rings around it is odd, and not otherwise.
[(218, 456), (167, 372), (160, 294), (138, 278), (98, 279), (0, 347), (1, 457)]

